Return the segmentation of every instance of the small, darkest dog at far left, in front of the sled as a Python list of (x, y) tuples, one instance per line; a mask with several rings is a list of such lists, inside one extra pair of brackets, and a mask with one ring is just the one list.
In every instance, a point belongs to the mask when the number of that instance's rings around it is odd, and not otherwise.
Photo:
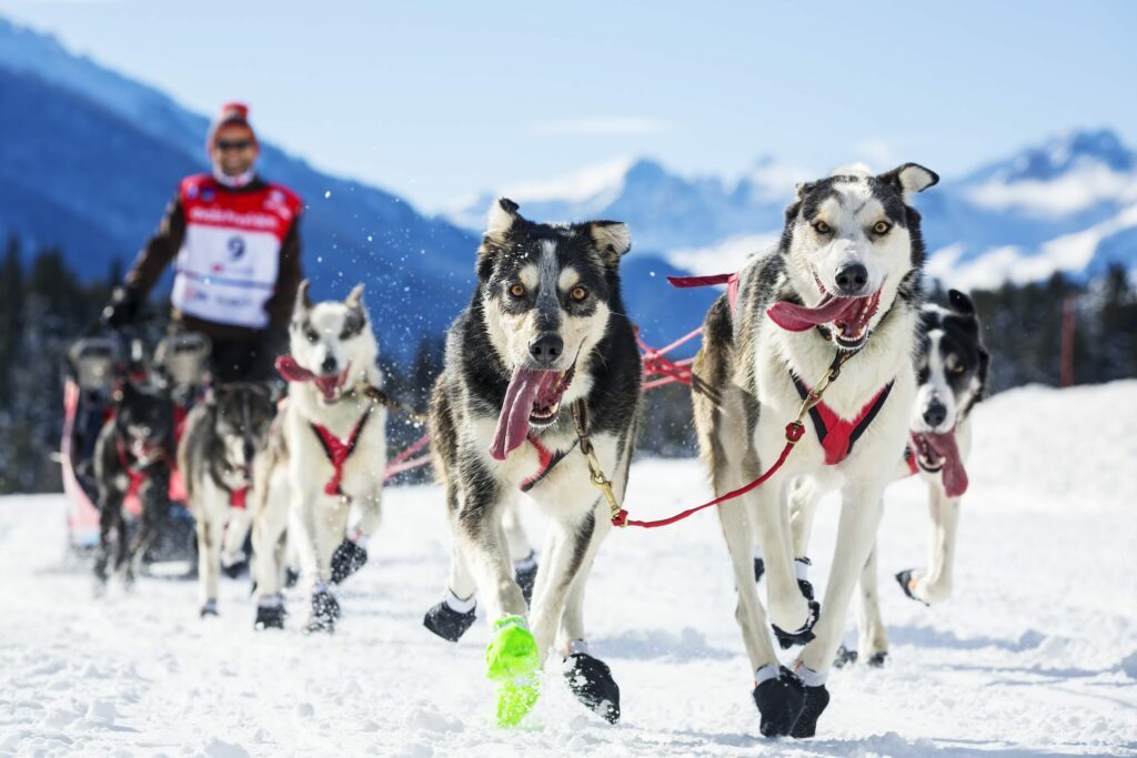
[[(94, 443), (94, 478), (99, 490), (99, 551), (94, 575), (106, 583), (108, 566), (134, 581), (136, 563), (158, 538), (169, 513), (169, 475), (174, 458), (174, 402), (159, 388), (125, 382), (116, 397), (114, 418)], [(128, 534), (124, 501), (138, 488), (138, 531)], [(111, 555), (114, 552), (114, 555)], [(97, 590), (98, 591), (98, 590)]]

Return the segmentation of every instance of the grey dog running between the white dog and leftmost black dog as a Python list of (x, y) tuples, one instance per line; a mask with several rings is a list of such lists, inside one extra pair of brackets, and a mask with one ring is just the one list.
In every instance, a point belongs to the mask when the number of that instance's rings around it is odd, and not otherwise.
[(185, 418), (177, 468), (197, 522), (202, 616), (217, 615), (218, 569), (230, 573), (247, 560), (252, 460), (275, 415), (267, 384), (238, 382), (211, 388)]

